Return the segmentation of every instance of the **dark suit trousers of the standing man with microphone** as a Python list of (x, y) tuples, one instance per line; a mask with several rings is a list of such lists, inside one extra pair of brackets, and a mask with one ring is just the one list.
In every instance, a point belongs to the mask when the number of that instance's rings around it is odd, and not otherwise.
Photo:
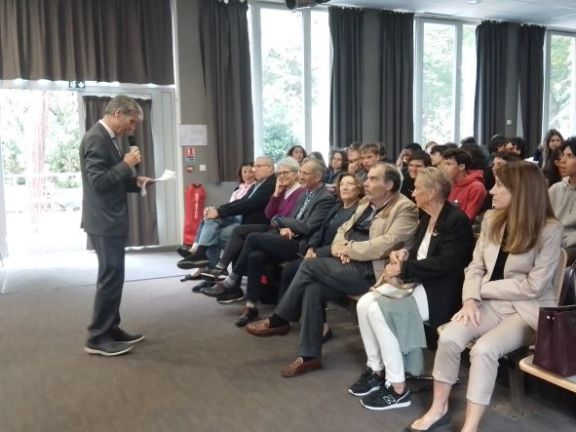
[(120, 325), (120, 302), (124, 286), (126, 238), (88, 235), (98, 257), (98, 279), (88, 343), (99, 344), (111, 339)]

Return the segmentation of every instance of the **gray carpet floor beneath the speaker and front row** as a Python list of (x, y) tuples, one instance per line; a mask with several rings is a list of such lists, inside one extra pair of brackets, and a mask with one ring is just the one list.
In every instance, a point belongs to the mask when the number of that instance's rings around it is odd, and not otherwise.
[[(240, 305), (191, 293), (193, 284), (175, 277), (175, 254), (157, 255), (146, 258), (165, 263), (157, 278), (135, 275), (125, 285), (123, 326), (146, 340), (123, 357), (82, 351), (94, 269), (78, 286), (62, 284), (77, 279), (63, 271), (50, 288), (13, 286), (0, 296), (0, 432), (402, 431), (428, 405), (425, 392), (408, 408), (371, 412), (347, 393), (364, 355), (349, 312), (339, 307), (328, 311), (335, 337), (324, 347), (324, 368), (282, 378), (297, 327), (284, 337), (248, 335), (233, 324)], [(533, 409), (516, 416), (498, 385), (482, 430), (576, 430), (574, 395), (554, 394), (529, 395)], [(465, 383), (453, 392), (454, 425), (462, 424), (464, 395)]]

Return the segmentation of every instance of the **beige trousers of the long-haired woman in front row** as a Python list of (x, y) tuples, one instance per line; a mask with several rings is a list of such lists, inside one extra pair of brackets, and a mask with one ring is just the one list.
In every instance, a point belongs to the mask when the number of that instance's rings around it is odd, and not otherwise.
[(444, 327), (438, 339), (433, 376), (437, 381), (454, 384), (458, 379), (460, 354), (468, 342), (477, 339), (470, 351), (466, 398), (470, 402), (489, 405), (496, 383), (498, 360), (528, 345), (534, 332), (509, 301), (484, 300), (478, 305), (478, 310), (478, 327), (460, 321), (451, 321)]

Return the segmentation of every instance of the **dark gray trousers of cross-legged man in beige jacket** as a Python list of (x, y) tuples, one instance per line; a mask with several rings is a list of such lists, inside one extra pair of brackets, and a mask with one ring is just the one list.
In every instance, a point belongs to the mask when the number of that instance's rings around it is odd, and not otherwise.
[(375, 282), (372, 263), (337, 258), (306, 259), (274, 311), (287, 321), (299, 321), (299, 355), (320, 357), (323, 309), (327, 301), (364, 294)]

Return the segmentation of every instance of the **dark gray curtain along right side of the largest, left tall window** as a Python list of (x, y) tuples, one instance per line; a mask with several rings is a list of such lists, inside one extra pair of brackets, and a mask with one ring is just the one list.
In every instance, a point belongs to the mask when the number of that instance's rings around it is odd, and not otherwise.
[(330, 145), (362, 141), (362, 10), (328, 9), (332, 36)]

